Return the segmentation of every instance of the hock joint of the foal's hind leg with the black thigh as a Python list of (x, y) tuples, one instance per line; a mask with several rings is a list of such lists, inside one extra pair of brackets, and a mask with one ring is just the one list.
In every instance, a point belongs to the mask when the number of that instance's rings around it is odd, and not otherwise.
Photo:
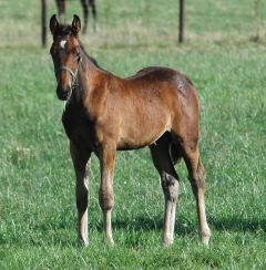
[(178, 197), (178, 179), (174, 178), (170, 174), (162, 176), (162, 188), (164, 191), (165, 199), (176, 201)]

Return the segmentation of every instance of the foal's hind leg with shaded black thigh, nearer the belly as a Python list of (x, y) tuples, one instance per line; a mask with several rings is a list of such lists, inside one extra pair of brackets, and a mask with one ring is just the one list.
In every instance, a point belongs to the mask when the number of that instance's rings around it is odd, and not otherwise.
[(152, 159), (160, 176), (165, 199), (164, 224), (162, 245), (168, 246), (174, 242), (175, 209), (178, 196), (178, 176), (172, 164), (168, 147), (171, 137), (164, 134), (156, 144), (150, 146)]

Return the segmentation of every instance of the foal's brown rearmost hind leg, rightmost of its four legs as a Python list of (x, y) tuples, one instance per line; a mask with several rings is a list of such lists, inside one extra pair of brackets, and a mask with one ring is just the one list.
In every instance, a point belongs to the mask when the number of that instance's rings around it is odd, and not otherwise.
[(200, 160), (197, 143), (182, 144), (183, 157), (188, 170), (188, 179), (196, 199), (197, 218), (198, 218), (198, 236), (203, 243), (207, 245), (211, 237), (211, 230), (207, 225), (204, 193), (206, 190), (205, 172)]

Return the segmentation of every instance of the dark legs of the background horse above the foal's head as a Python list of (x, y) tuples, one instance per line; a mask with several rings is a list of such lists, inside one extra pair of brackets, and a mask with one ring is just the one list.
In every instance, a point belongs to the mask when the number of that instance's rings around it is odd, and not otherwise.
[[(66, 8), (66, 0), (55, 0), (58, 6), (59, 19), (61, 22), (64, 22), (64, 14)], [(83, 33), (86, 32), (88, 17), (89, 17), (89, 7), (92, 9), (93, 15), (93, 30), (96, 32), (96, 4), (95, 0), (81, 0), (83, 14), (84, 14), (84, 28), (82, 30)]]

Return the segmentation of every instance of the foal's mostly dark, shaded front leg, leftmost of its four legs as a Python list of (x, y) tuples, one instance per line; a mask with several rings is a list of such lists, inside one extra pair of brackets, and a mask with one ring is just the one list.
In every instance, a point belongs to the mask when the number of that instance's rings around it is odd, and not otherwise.
[(88, 204), (89, 204), (89, 172), (91, 153), (80, 150), (70, 143), (70, 153), (75, 170), (75, 199), (78, 209), (78, 243), (89, 245), (88, 238)]

